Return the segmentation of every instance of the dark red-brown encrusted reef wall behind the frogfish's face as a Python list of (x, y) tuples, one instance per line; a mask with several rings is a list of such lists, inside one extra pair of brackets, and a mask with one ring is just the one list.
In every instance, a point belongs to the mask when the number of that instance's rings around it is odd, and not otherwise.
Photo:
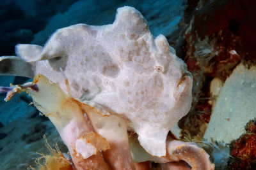
[[(251, 48), (255, 41), (255, 32), (251, 32), (255, 29), (255, 17), (252, 17), (255, 14), (250, 12), (254, 11), (255, 2), (192, 1), (189, 4), (197, 4), (184, 35), (184, 61), (194, 80), (193, 102), (179, 125), (192, 136), (202, 137), (216, 100), (210, 96), (207, 83), (213, 78), (224, 82), (240, 62), (255, 63), (255, 48)], [(252, 36), (249, 38), (248, 34)]]

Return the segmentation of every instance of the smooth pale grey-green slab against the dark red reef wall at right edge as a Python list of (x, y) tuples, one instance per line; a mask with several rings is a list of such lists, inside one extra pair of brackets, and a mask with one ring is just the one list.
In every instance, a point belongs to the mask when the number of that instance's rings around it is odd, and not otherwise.
[(221, 89), (204, 138), (230, 141), (239, 138), (246, 123), (256, 117), (256, 67), (240, 64)]

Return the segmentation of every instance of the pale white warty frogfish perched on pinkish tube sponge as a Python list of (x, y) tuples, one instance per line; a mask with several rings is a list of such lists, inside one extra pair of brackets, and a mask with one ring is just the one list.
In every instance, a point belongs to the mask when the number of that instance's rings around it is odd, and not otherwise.
[(72, 97), (125, 117), (152, 155), (166, 155), (168, 131), (191, 106), (186, 64), (163, 35), (154, 39), (145, 18), (128, 6), (118, 8), (113, 24), (65, 27), (44, 47), (17, 45), (16, 53), (65, 92), (67, 78)]

